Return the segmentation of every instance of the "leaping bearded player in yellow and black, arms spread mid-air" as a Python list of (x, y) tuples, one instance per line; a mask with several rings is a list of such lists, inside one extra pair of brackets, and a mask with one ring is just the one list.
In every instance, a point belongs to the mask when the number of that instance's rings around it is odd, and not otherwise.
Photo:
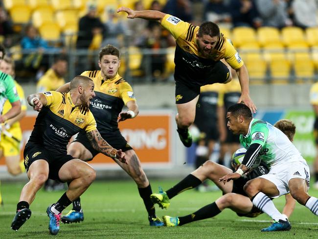
[(238, 102), (244, 102), (253, 113), (256, 112), (256, 107), (250, 99), (248, 71), (217, 24), (204, 22), (200, 26), (193, 26), (169, 14), (152, 10), (134, 11), (120, 7), (117, 12), (126, 12), (127, 18), (158, 21), (176, 39), (176, 122), (184, 146), (190, 147), (192, 144), (188, 128), (195, 118), (200, 87), (213, 83), (227, 83), (231, 80), (231, 73), (224, 64), (226, 62), (236, 70), (240, 80), (242, 94)]

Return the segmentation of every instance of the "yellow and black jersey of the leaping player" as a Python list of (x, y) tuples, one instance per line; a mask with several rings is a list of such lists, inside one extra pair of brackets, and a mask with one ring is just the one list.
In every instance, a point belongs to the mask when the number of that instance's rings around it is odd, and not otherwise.
[[(200, 82), (212, 81), (214, 65), (220, 59), (225, 59), (235, 70), (243, 66), (243, 60), (227, 38), (220, 33), (210, 58), (205, 58), (197, 46), (199, 26), (183, 22), (179, 18), (166, 14), (161, 25), (176, 39), (175, 79)], [(218, 81), (216, 81), (218, 82)]]

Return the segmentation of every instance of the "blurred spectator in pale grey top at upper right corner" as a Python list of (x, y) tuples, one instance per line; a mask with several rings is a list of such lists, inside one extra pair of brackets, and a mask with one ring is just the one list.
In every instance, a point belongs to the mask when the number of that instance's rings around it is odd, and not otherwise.
[(296, 26), (302, 28), (317, 26), (316, 0), (294, 0), (292, 9)]

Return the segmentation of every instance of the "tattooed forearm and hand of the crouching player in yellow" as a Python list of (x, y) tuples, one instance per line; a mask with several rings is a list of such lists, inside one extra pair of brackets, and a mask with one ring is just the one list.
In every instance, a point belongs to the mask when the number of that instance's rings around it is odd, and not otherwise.
[(98, 152), (101, 152), (111, 158), (118, 159), (121, 163), (128, 164), (126, 154), (121, 149), (117, 150), (107, 143), (97, 129), (88, 132), (86, 136), (91, 142), (91, 146), (93, 146), (93, 148)]

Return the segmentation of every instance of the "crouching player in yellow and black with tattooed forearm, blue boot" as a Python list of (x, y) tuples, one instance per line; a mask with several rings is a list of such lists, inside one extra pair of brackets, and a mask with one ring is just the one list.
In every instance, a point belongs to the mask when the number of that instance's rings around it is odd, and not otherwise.
[(89, 164), (67, 154), (69, 139), (80, 130), (86, 132), (95, 150), (127, 163), (126, 154), (109, 145), (96, 129), (96, 121), (88, 108), (94, 96), (94, 82), (86, 76), (76, 76), (70, 82), (69, 93), (49, 91), (27, 97), (28, 103), (40, 113), (24, 148), (24, 166), (30, 180), (21, 191), (11, 229), (18, 230), (30, 218), (29, 206), (36, 192), (50, 178), (68, 182), (68, 191), (46, 209), (50, 234), (59, 232), (63, 209), (95, 179), (95, 170)]

